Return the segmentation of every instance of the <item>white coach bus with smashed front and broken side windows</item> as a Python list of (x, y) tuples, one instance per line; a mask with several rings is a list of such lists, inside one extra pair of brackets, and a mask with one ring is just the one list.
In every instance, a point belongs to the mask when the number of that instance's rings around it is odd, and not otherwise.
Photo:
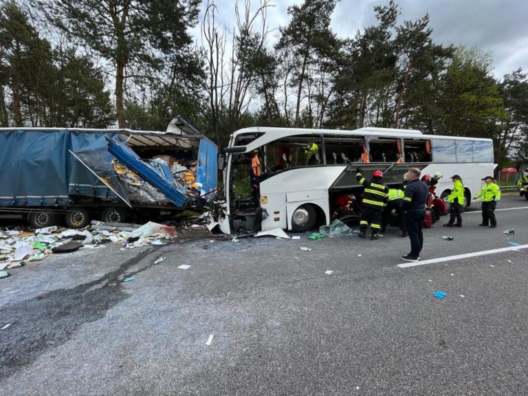
[[(452, 175), (465, 186), (465, 206), (493, 175), (490, 139), (423, 135), (407, 129), (361, 128), (353, 131), (252, 127), (230, 136), (224, 149), (224, 199), (210, 212), (209, 228), (225, 234), (282, 228), (294, 232), (330, 224), (336, 198), (360, 197), (355, 169), (384, 172), (388, 186), (401, 184), (410, 167), (422, 174), (440, 172), (437, 195), (450, 193)], [(253, 167), (252, 167), (253, 166)], [(237, 191), (236, 183), (252, 177), (253, 194)], [(258, 174), (261, 175), (258, 176)], [(246, 184), (247, 185), (247, 184)]]

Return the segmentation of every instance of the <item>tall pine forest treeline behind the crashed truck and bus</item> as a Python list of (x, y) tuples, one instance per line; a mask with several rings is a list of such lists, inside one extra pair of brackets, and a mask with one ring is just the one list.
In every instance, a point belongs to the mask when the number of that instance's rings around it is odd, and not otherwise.
[[(489, 137), (499, 168), (528, 155), (528, 80), (432, 40), (428, 14), (337, 36), (337, 0), (305, 0), (272, 32), (272, 0), (0, 0), (0, 126), (164, 130), (184, 115), (225, 146), (245, 126), (382, 126)], [(191, 34), (199, 31), (199, 35)]]

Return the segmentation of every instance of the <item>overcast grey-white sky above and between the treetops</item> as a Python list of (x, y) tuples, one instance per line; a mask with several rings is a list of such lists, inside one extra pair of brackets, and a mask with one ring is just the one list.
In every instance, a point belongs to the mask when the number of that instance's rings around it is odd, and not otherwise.
[[(270, 28), (287, 25), (288, 5), (303, 3), (302, 0), (272, 0), (276, 6), (269, 10), (267, 22)], [(230, 32), (236, 23), (234, 0), (216, 0), (219, 22), (223, 21)], [(243, 3), (243, 0), (239, 0)], [(528, 72), (528, 1), (527, 0), (397, 0), (401, 10), (399, 23), (415, 20), (426, 13), (434, 42), (441, 44), (478, 47), (491, 52), (494, 75), (504, 74), (522, 67)], [(341, 0), (332, 16), (331, 28), (338, 36), (353, 37), (365, 26), (375, 24), (374, 6), (386, 5), (388, 0)], [(252, 0), (256, 9), (259, 1)], [(203, 18), (203, 1), (200, 19)], [(199, 35), (199, 28), (195, 29)], [(270, 38), (274, 43), (278, 34)]]

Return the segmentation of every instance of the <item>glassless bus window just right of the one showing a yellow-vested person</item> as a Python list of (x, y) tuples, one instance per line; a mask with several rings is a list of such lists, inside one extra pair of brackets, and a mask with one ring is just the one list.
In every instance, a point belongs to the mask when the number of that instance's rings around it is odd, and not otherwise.
[(362, 137), (325, 135), (325, 154), (329, 165), (368, 162)]

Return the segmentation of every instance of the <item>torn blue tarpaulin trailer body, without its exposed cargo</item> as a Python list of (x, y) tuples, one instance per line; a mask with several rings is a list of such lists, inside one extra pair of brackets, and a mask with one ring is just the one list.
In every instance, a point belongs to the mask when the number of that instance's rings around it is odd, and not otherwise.
[[(115, 151), (111, 148), (115, 146)], [(133, 131), (129, 129), (58, 129), (58, 128), (4, 128), (0, 129), (0, 211), (25, 212), (35, 227), (47, 226), (56, 221), (58, 213), (68, 215), (77, 210), (108, 214), (124, 214), (131, 206), (144, 209), (181, 209), (194, 206), (203, 197), (210, 197), (217, 189), (217, 146), (208, 140), (184, 118), (175, 118), (166, 132)], [(106, 179), (100, 179), (87, 164), (80, 162), (75, 153), (91, 153), (100, 168), (112, 168), (112, 160), (119, 155), (122, 162), (142, 177), (144, 181), (165, 196), (163, 203), (138, 205), (126, 202)], [(159, 170), (163, 164), (140, 160), (155, 155), (171, 155), (175, 158), (196, 162), (195, 195), (185, 194), (184, 188), (175, 183), (170, 170), (164, 166), (165, 177), (151, 183), (152, 168)], [(95, 157), (94, 157), (95, 156)], [(130, 165), (133, 166), (130, 166)], [(136, 167), (135, 167), (136, 166)], [(144, 172), (145, 175), (141, 173)], [(167, 174), (168, 173), (168, 174)], [(158, 174), (157, 174), (158, 175)], [(122, 207), (122, 208), (121, 208)], [(37, 217), (40, 215), (40, 221)], [(72, 216), (70, 216), (72, 217)], [(100, 217), (100, 213), (98, 214)], [(118, 216), (119, 217), (119, 216)], [(77, 216), (77, 219), (80, 219)], [(68, 219), (67, 224), (69, 223)], [(71, 220), (71, 219), (70, 219)], [(103, 219), (108, 221), (109, 219)], [(122, 218), (118, 218), (121, 220)], [(72, 223), (72, 221), (70, 221)], [(86, 221), (81, 221), (83, 225)], [(74, 222), (68, 225), (78, 225)]]

